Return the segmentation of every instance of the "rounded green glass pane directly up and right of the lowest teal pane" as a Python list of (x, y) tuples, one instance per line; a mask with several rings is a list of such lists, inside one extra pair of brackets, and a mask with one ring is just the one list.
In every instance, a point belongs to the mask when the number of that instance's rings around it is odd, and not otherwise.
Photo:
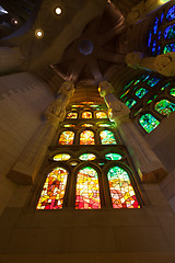
[(167, 100), (161, 100), (155, 104), (155, 111), (164, 116), (167, 116), (175, 111), (175, 104)]

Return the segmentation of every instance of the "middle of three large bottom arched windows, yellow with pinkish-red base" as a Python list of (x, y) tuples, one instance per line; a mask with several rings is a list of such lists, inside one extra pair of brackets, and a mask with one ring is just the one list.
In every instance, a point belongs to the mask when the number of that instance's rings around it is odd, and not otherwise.
[(100, 209), (100, 186), (97, 172), (85, 167), (78, 173), (75, 191), (75, 209)]

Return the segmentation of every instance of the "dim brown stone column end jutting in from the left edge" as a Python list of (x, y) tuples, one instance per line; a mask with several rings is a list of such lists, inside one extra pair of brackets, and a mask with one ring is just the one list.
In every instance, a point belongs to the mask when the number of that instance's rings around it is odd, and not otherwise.
[(0, 47), (0, 72), (9, 72), (20, 68), (24, 57), (19, 47)]

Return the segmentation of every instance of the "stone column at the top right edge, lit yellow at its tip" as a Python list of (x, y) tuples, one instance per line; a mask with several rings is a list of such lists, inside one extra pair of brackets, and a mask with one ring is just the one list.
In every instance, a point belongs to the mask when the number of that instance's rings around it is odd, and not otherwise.
[(130, 13), (128, 13), (127, 22), (129, 24), (137, 24), (148, 18), (152, 12), (160, 9), (163, 4), (171, 0), (144, 0), (135, 5)]

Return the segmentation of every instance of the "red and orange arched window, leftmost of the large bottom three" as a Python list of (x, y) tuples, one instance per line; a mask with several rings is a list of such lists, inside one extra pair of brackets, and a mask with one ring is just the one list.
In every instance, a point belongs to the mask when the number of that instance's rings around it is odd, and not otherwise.
[(36, 209), (62, 208), (67, 178), (63, 168), (56, 168), (47, 175)]

